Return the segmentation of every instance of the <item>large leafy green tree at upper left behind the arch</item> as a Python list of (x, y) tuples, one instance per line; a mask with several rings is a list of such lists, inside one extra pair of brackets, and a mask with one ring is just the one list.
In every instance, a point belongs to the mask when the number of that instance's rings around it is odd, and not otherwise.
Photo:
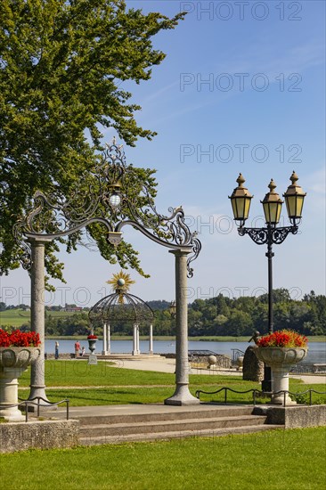
[[(129, 145), (154, 132), (139, 127), (123, 90), (126, 80), (151, 78), (165, 54), (151, 38), (174, 29), (157, 12), (126, 9), (123, 0), (1, 0), (0, 3), (0, 269), (19, 266), (12, 226), (36, 190), (69, 193), (102, 150), (102, 129), (114, 127)], [(134, 169), (155, 195), (152, 171)], [(96, 228), (91, 234), (102, 256), (143, 274), (126, 243), (113, 249)], [(77, 237), (74, 237), (76, 243)], [(68, 243), (71, 249), (71, 241)], [(62, 278), (46, 248), (46, 267)]]

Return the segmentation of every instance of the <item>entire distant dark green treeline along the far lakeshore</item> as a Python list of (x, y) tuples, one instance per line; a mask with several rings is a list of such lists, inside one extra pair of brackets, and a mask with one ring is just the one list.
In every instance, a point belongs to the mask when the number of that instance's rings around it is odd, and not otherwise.
[[(289, 290), (273, 290), (274, 330), (292, 329), (305, 335), (326, 335), (326, 297), (314, 291), (300, 301), (290, 298)], [(148, 301), (154, 311), (155, 335), (175, 335), (175, 319), (169, 313), (169, 302)], [(253, 331), (267, 331), (268, 295), (228, 298), (219, 294), (216, 298), (196, 299), (189, 305), (188, 326), (190, 336), (251, 335)], [(29, 325), (24, 326), (29, 328)], [(148, 333), (148, 325), (141, 324), (141, 334)], [(132, 335), (133, 325), (116, 323), (111, 331), (117, 335)], [(86, 335), (89, 333), (86, 311), (70, 316), (53, 316), (45, 311), (47, 335)], [(102, 328), (95, 327), (101, 335)]]

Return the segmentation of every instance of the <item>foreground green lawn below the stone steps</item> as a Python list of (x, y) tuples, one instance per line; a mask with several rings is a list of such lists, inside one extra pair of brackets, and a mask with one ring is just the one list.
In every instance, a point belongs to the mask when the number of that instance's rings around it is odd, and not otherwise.
[[(323, 490), (324, 428), (1, 455), (8, 490)], [(314, 457), (312, 457), (314, 453)]]

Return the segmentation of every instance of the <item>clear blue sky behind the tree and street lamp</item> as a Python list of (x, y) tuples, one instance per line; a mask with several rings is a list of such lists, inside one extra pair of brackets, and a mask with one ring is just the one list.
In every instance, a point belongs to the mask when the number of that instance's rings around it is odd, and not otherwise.
[[(260, 200), (273, 177), (281, 194), (295, 169), (307, 192), (297, 236), (275, 246), (273, 283), (302, 298), (325, 294), (325, 3), (130, 1), (144, 12), (188, 11), (173, 31), (155, 38), (167, 53), (152, 78), (124, 84), (143, 110), (136, 118), (158, 132), (152, 142), (125, 147), (135, 167), (157, 169), (157, 208), (183, 205), (200, 233), (202, 251), (189, 281), (189, 301), (219, 292), (238, 298), (266, 291), (265, 246), (240, 237), (228, 195), (241, 172), (254, 194), (248, 225), (264, 225)], [(110, 142), (113, 131), (105, 133)], [(260, 217), (259, 217), (260, 216)], [(285, 205), (281, 225), (288, 225)], [(126, 241), (140, 252), (143, 279), (132, 292), (145, 300), (175, 297), (174, 257), (139, 232)], [(61, 254), (67, 284), (47, 302), (91, 306), (110, 290), (118, 266), (79, 249)], [(1, 278), (3, 300), (29, 303), (29, 277)]]

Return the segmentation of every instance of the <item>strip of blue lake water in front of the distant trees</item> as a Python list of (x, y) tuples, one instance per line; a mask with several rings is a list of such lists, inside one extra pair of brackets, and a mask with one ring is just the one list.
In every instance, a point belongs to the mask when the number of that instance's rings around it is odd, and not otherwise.
[[(45, 340), (45, 352), (54, 354), (55, 339)], [(75, 340), (58, 340), (59, 353), (67, 354), (75, 352)], [(80, 346), (86, 348), (88, 352), (87, 340), (79, 340)], [(189, 350), (210, 350), (216, 354), (230, 355), (233, 357), (232, 349), (240, 349), (242, 352), (249, 347), (249, 342), (208, 342), (189, 340)], [(131, 354), (133, 349), (132, 340), (111, 340), (112, 354)], [(140, 341), (140, 349), (142, 354), (147, 354), (149, 351), (149, 342), (146, 340)], [(171, 340), (157, 340), (153, 342), (153, 350), (155, 354), (175, 353), (175, 342)], [(97, 341), (97, 352), (102, 351), (102, 340)], [(326, 343), (325, 342), (309, 342), (308, 355), (304, 363), (326, 363)]]

